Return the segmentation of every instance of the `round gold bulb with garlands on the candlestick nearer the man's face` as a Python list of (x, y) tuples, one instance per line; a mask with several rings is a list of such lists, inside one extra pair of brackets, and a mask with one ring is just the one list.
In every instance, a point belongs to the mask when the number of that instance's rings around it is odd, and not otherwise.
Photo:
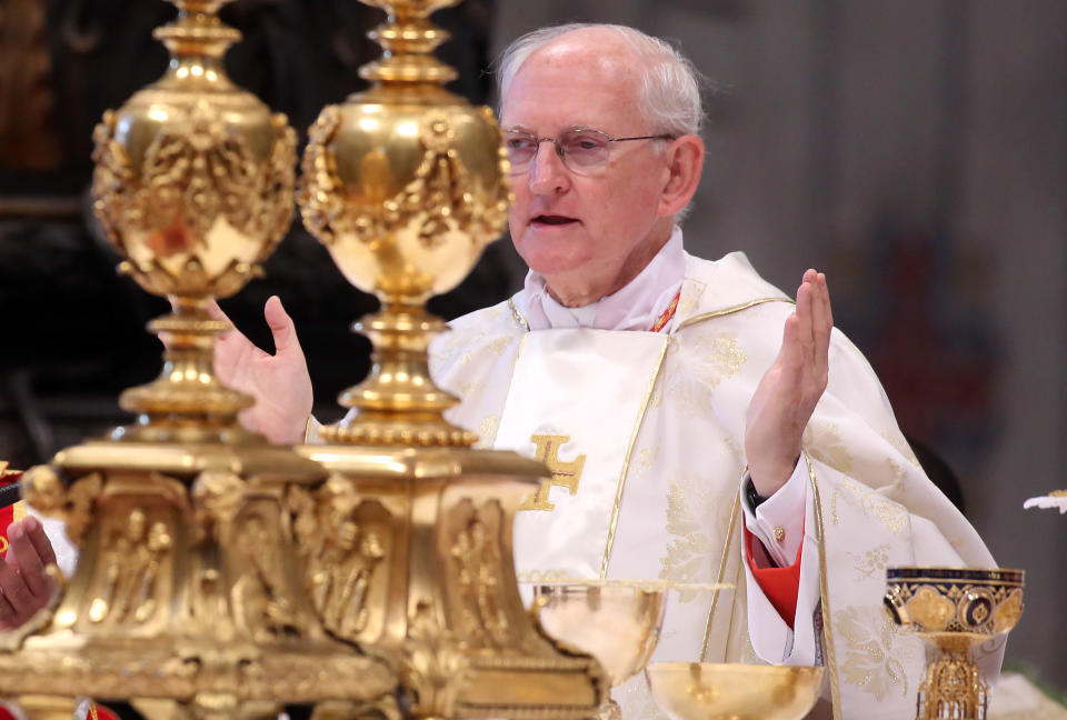
[(503, 230), (510, 197), (492, 114), (440, 88), (375, 88), (323, 109), (302, 182), (308, 230), (387, 304), (459, 284)]

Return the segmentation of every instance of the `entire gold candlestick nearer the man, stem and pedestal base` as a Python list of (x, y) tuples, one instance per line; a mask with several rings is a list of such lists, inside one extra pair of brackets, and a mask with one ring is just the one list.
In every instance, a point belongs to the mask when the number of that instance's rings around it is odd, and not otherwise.
[(500, 130), (441, 83), (429, 14), (455, 0), (377, 0), (386, 52), (365, 92), (310, 130), (298, 202), (305, 226), (379, 313), (357, 324), (373, 368), (355, 410), (298, 451), (330, 480), (290, 494), (305, 588), (338, 638), (398, 664), (418, 718), (582, 718), (608, 684), (597, 661), (544, 636), (519, 598), (511, 530), (548, 477), (540, 462), (479, 451), (442, 412), (458, 399), (429, 377), (445, 324), (425, 301), (455, 287), (507, 220)]

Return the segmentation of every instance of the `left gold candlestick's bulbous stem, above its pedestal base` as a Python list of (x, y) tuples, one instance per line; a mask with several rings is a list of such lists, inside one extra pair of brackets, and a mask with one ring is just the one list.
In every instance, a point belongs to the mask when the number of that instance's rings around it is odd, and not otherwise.
[(153, 321), (169, 346), (158, 380), (128, 390), (140, 416), (117, 438), (251, 441), (237, 413), (251, 398), (215, 377), (210, 317), (260, 272), (292, 218), (296, 133), (282, 114), (230, 82), (222, 64), (240, 32), (215, 14), (228, 0), (173, 0), (178, 18), (154, 37), (171, 52), (164, 76), (94, 133), (94, 209), (120, 270), (174, 311)]

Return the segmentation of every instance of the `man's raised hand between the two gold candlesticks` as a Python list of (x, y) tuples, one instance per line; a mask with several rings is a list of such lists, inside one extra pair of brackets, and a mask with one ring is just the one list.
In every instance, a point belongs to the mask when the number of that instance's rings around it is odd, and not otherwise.
[[(209, 311), (219, 320), (230, 321), (213, 300)], [(275, 354), (260, 350), (233, 329), (216, 342), (215, 371), (222, 384), (256, 399), (256, 404), (240, 414), (246, 429), (271, 442), (302, 442), (313, 400), (308, 363), (292, 318), (278, 296), (267, 300), (263, 318), (275, 338)]]

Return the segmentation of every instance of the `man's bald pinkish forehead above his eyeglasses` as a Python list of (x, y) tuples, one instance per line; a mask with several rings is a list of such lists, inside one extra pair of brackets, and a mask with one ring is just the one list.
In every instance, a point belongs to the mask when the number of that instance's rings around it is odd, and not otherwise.
[(639, 122), (640, 61), (617, 33), (596, 30), (599, 37), (576, 31), (526, 59), (503, 99), (505, 126), (539, 132), (634, 129)]

